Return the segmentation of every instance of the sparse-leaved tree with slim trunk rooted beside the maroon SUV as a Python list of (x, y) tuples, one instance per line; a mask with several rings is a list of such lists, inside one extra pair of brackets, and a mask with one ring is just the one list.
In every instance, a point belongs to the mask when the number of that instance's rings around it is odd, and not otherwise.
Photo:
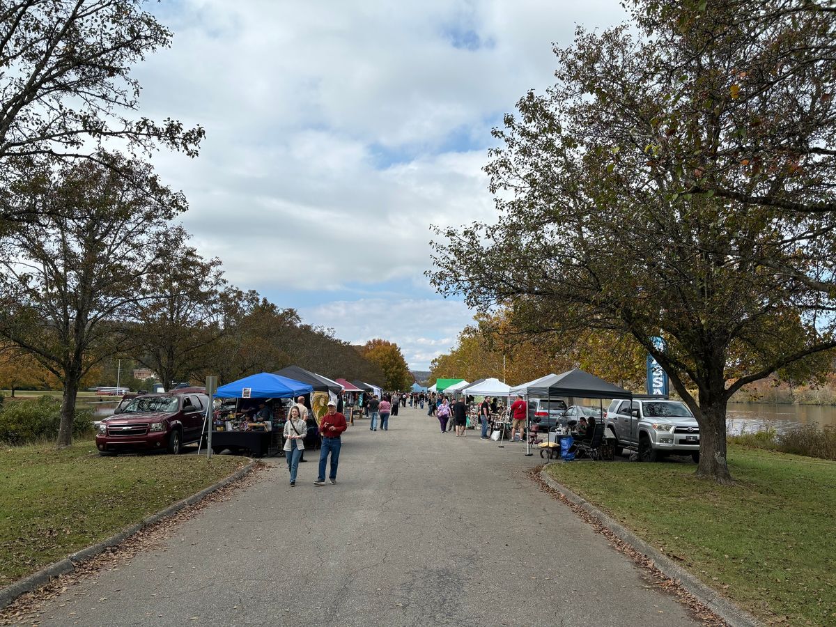
[(104, 153), (33, 182), (20, 201), (43, 211), (2, 242), (0, 335), (61, 381), (58, 444), (67, 446), (79, 382), (127, 348), (167, 221), (186, 203), (150, 166)]

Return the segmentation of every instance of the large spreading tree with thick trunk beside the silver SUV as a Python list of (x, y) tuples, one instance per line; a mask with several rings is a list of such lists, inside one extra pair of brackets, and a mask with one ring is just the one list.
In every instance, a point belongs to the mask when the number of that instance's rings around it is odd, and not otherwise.
[[(787, 204), (833, 200), (825, 166), (788, 157), (807, 142), (809, 159), (829, 158), (833, 120), (818, 111), (833, 106), (836, 74), (805, 57), (829, 32), (822, 13), (772, 23), (763, 37), (780, 54), (754, 63), (741, 44), (756, 35), (734, 27), (751, 23), (747, 5), (707, 4), (637, 2), (630, 26), (645, 36), (579, 30), (556, 49), (558, 83), (495, 131), (498, 225), (442, 230), (433, 281), (480, 308), (512, 303), (538, 332), (631, 334), (696, 415), (697, 475), (729, 482), (727, 400), (776, 370), (812, 372), (836, 346), (832, 215)], [(737, 109), (744, 90), (768, 93), (788, 72), (794, 103), (786, 89)]]

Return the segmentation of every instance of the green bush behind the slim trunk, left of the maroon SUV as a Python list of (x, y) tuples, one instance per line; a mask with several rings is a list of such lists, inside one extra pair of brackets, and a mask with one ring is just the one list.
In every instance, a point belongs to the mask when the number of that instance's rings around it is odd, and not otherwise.
[[(92, 431), (92, 413), (76, 410), (73, 436), (84, 436)], [(58, 437), (61, 422), (61, 402), (52, 396), (37, 400), (18, 400), (0, 410), (0, 442), (10, 445), (28, 444)]]

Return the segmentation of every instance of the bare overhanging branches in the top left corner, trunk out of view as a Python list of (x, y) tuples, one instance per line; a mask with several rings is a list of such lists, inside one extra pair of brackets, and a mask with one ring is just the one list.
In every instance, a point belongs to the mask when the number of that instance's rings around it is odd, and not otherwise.
[(38, 219), (43, 205), (19, 202), (18, 184), (55, 161), (114, 167), (100, 159), (111, 139), (145, 153), (164, 145), (197, 154), (200, 126), (138, 114), (140, 84), (131, 69), (171, 43), (144, 4), (0, 0), (0, 236)]

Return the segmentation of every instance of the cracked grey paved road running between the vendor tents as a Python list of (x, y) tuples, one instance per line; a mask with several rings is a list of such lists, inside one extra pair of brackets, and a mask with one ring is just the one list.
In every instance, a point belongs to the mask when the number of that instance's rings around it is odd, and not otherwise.
[(390, 422), (349, 427), (338, 485), (314, 487), (311, 462), (295, 488), (264, 472), (43, 624), (697, 624), (526, 477), (540, 459), (522, 444), (442, 435), (410, 408)]

